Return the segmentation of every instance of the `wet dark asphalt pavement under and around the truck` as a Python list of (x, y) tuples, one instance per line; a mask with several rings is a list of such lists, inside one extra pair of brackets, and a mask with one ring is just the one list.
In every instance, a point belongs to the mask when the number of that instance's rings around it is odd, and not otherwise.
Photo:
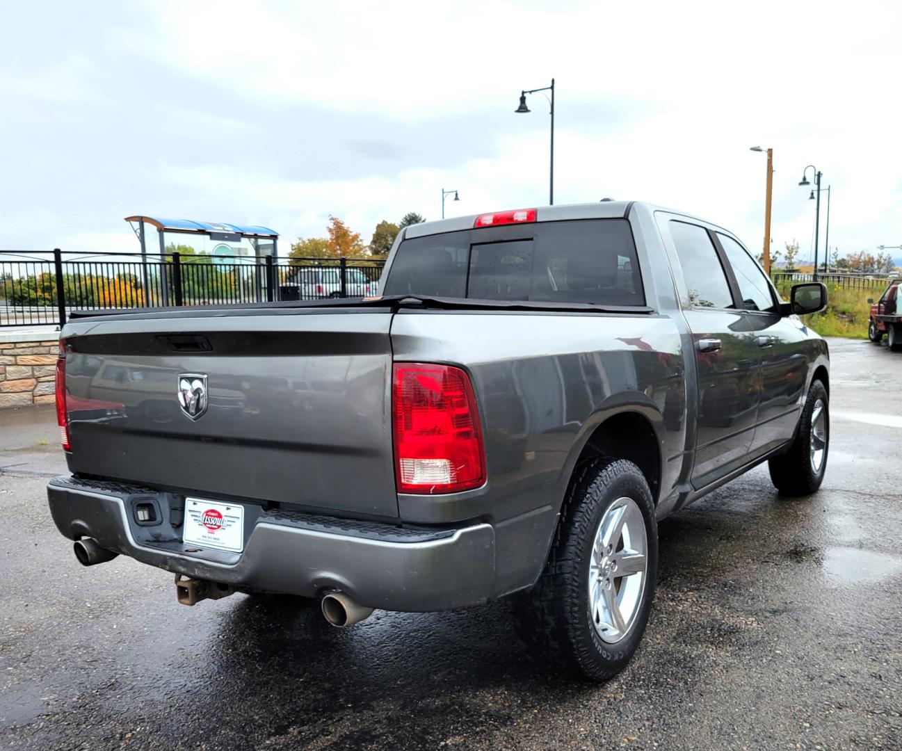
[(663, 521), (643, 645), (601, 685), (533, 664), (503, 601), (339, 630), (83, 568), (47, 510), (52, 409), (0, 412), (0, 747), (900, 749), (902, 355), (830, 344), (822, 490), (759, 467)]

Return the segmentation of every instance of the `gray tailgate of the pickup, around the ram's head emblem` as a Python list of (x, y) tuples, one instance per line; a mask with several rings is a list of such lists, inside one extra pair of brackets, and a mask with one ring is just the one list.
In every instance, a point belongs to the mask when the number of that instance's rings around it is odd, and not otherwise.
[[(397, 517), (390, 326), (390, 310), (336, 307), (71, 322), (69, 469)], [(179, 403), (185, 374), (206, 381), (196, 418)]]

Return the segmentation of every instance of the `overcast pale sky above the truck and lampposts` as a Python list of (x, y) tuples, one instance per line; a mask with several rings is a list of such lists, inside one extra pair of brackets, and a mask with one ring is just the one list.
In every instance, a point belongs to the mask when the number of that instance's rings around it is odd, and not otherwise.
[[(0, 46), (0, 249), (132, 251), (123, 217), (265, 224), (649, 200), (812, 246), (902, 244), (898, 3), (16, 3)], [(825, 194), (824, 194), (825, 199)], [(825, 206), (822, 206), (825, 214)], [(822, 222), (824, 216), (822, 215)], [(822, 229), (822, 253), (824, 247)], [(902, 252), (894, 251), (899, 257)]]

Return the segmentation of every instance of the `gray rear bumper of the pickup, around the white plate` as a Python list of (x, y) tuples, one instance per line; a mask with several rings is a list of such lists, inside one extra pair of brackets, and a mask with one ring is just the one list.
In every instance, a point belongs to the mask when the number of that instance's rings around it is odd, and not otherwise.
[[(47, 495), (63, 536), (93, 537), (116, 553), (198, 579), (307, 597), (338, 589), (371, 608), (411, 612), (492, 597), (495, 534), (488, 524), (419, 531), (260, 509), (245, 516), (244, 553), (189, 553), (197, 548), (181, 542), (179, 500), (169, 493), (58, 477)], [(163, 517), (155, 527), (133, 519), (133, 504), (148, 499)]]

